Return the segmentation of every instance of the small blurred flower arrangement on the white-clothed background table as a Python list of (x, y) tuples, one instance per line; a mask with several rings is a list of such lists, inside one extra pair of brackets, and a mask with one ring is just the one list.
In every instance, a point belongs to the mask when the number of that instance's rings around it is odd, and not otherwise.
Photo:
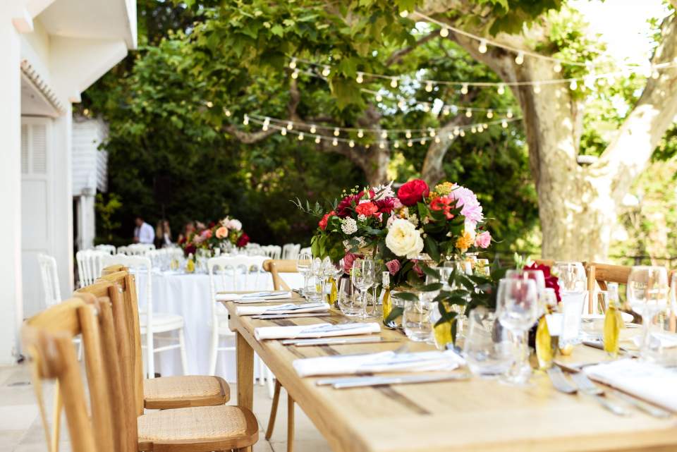
[(244, 248), (249, 243), (249, 236), (242, 230), (242, 223), (226, 216), (218, 223), (211, 223), (190, 233), (178, 244), (186, 256), (195, 254), (197, 250), (221, 249), (221, 245)]

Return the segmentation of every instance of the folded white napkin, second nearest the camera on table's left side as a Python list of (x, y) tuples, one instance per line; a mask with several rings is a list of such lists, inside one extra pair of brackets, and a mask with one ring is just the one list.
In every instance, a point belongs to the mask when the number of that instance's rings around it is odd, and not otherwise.
[(324, 338), (332, 336), (353, 336), (355, 334), (379, 333), (381, 326), (372, 323), (349, 323), (333, 325), (262, 326), (254, 329), (254, 337), (262, 339)]

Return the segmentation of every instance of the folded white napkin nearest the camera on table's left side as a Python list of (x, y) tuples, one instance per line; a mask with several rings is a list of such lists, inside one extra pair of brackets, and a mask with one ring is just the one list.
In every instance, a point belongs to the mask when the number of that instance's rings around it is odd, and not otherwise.
[(465, 361), (453, 350), (417, 353), (368, 353), (366, 355), (321, 356), (295, 360), (292, 365), (299, 377), (360, 374), (365, 372), (429, 372), (453, 370)]

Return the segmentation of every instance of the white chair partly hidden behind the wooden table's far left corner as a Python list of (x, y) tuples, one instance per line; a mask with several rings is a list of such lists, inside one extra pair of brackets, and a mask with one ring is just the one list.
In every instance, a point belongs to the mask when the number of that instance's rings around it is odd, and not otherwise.
[[(209, 287), (212, 293), (212, 346), (209, 354), (209, 374), (216, 373), (216, 359), (219, 351), (235, 351), (233, 346), (219, 347), (219, 340), (223, 337), (233, 338), (235, 333), (228, 327), (228, 313), (216, 301), (217, 286), (224, 290), (228, 279), (231, 279), (232, 291), (248, 291), (259, 288), (260, 281), (266, 281), (267, 275), (262, 273), (264, 256), (224, 256), (212, 257), (207, 260), (209, 271)], [(218, 284), (217, 284), (218, 283)], [(228, 288), (231, 291), (231, 288)], [(260, 384), (266, 381), (272, 397), (273, 375), (257, 355), (254, 360), (254, 375), (259, 376)]]

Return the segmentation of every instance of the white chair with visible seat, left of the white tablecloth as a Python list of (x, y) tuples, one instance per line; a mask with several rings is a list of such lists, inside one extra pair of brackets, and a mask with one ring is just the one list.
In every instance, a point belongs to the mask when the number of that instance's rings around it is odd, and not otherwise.
[[(181, 367), (183, 374), (188, 373), (188, 358), (185, 355), (185, 338), (183, 336), (183, 317), (178, 314), (168, 314), (164, 312), (153, 312), (152, 295), (152, 264), (150, 258), (145, 256), (126, 256), (115, 255), (104, 257), (104, 265), (124, 265), (130, 271), (135, 272), (137, 281), (139, 276), (145, 276), (145, 310), (139, 310), (139, 324), (141, 326), (142, 346), (146, 350), (146, 374), (148, 378), (155, 377), (155, 353), (164, 352), (178, 348), (181, 353)], [(162, 335), (162, 333), (171, 333), (177, 331), (178, 342), (176, 338)], [(166, 341), (169, 345), (155, 347), (154, 340)], [(145, 344), (144, 344), (145, 342)]]

